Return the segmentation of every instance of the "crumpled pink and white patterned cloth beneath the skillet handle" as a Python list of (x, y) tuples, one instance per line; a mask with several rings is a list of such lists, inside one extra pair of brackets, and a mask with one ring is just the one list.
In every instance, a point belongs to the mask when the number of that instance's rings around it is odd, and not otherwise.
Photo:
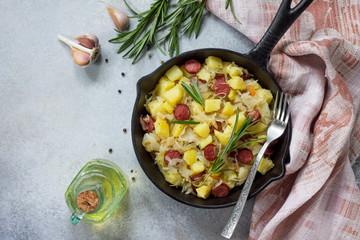
[[(208, 0), (258, 42), (281, 0)], [(299, 2), (295, 1), (296, 3)], [(270, 70), (292, 95), (286, 176), (256, 197), (249, 239), (360, 239), (360, 2), (315, 0), (277, 44)]]

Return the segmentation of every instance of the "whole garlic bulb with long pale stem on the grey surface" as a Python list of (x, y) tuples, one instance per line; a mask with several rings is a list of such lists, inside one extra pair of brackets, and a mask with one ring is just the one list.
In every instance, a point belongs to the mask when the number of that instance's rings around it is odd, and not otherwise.
[(99, 45), (99, 39), (93, 34), (85, 34), (75, 38), (79, 43), (62, 35), (58, 35), (57, 37), (71, 48), (75, 63), (82, 67), (86, 67), (95, 62), (100, 55), (101, 47)]

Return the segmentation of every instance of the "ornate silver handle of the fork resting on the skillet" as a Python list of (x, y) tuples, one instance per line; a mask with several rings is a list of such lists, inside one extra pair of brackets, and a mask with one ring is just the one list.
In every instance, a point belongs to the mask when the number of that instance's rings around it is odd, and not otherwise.
[(270, 142), (271, 141), (266, 141), (264, 143), (263, 147), (261, 148), (260, 152), (258, 153), (258, 155), (255, 159), (255, 162), (251, 167), (250, 173), (246, 179), (245, 185), (241, 191), (240, 197), (236, 202), (235, 208), (234, 208), (226, 226), (224, 227), (224, 229), (221, 233), (221, 235), (227, 239), (231, 238), (231, 236), (235, 230), (235, 227), (236, 227), (237, 223), (239, 222), (239, 219), (240, 219), (240, 216), (244, 209), (246, 200), (249, 196), (250, 188), (254, 181), (257, 169), (259, 167), (262, 157), (264, 156), (265, 150), (269, 146)]

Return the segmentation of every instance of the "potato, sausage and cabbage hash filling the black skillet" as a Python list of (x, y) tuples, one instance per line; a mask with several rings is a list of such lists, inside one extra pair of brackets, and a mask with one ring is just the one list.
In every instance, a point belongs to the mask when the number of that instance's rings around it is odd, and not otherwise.
[[(233, 62), (190, 59), (170, 68), (148, 97), (143, 146), (172, 186), (199, 198), (225, 197), (245, 182), (266, 140), (272, 99)], [(260, 173), (274, 166), (273, 151), (267, 149)]]

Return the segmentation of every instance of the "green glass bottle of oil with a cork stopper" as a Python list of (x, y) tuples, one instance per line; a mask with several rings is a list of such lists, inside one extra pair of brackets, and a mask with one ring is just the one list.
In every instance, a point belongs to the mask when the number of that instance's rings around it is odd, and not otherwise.
[[(89, 161), (76, 175), (65, 192), (72, 224), (80, 220), (91, 223), (104, 222), (114, 211), (128, 189), (128, 182), (116, 164), (105, 159)], [(85, 191), (93, 191), (99, 198), (97, 208), (83, 212), (77, 205), (77, 197)]]

